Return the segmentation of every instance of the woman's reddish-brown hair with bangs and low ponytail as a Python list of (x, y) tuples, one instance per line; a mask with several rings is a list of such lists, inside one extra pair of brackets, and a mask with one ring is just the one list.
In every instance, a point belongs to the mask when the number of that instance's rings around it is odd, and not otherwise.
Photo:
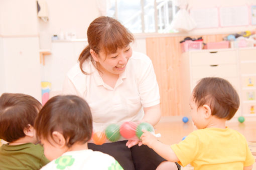
[[(84, 74), (88, 74), (82, 68), (83, 62), (91, 56), (90, 49), (98, 54), (103, 50), (106, 54), (116, 52), (117, 48), (123, 48), (134, 41), (134, 35), (126, 29), (118, 20), (100, 16), (94, 19), (87, 29), (88, 45), (81, 52), (78, 61), (80, 69)], [(96, 63), (92, 63), (96, 67)]]

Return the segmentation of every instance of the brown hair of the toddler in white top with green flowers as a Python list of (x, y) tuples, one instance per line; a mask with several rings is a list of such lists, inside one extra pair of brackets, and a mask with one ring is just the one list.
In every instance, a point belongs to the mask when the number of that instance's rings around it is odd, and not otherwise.
[(71, 147), (76, 142), (86, 143), (92, 135), (92, 115), (87, 102), (76, 95), (57, 95), (40, 110), (35, 129), (39, 138), (53, 138), (58, 131)]

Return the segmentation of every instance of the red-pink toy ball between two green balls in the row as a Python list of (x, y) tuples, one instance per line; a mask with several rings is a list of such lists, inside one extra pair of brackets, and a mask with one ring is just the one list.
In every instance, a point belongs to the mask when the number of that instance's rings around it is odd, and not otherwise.
[(124, 138), (133, 138), (136, 133), (137, 124), (133, 121), (125, 121), (120, 126), (120, 134)]

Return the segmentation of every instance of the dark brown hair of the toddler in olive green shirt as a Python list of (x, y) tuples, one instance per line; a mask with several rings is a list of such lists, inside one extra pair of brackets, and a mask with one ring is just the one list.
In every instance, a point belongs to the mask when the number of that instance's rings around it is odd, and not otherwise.
[(13, 142), (26, 136), (24, 129), (34, 126), (42, 104), (33, 96), (3, 93), (0, 96), (0, 138)]

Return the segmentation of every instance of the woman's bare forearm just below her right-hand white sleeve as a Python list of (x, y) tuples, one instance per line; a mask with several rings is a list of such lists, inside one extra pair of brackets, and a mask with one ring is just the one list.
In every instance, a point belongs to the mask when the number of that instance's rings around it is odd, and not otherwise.
[(144, 112), (145, 112), (145, 115), (141, 120), (142, 122), (146, 121), (152, 124), (153, 126), (159, 122), (161, 118), (160, 104), (157, 104), (151, 107), (144, 107)]

